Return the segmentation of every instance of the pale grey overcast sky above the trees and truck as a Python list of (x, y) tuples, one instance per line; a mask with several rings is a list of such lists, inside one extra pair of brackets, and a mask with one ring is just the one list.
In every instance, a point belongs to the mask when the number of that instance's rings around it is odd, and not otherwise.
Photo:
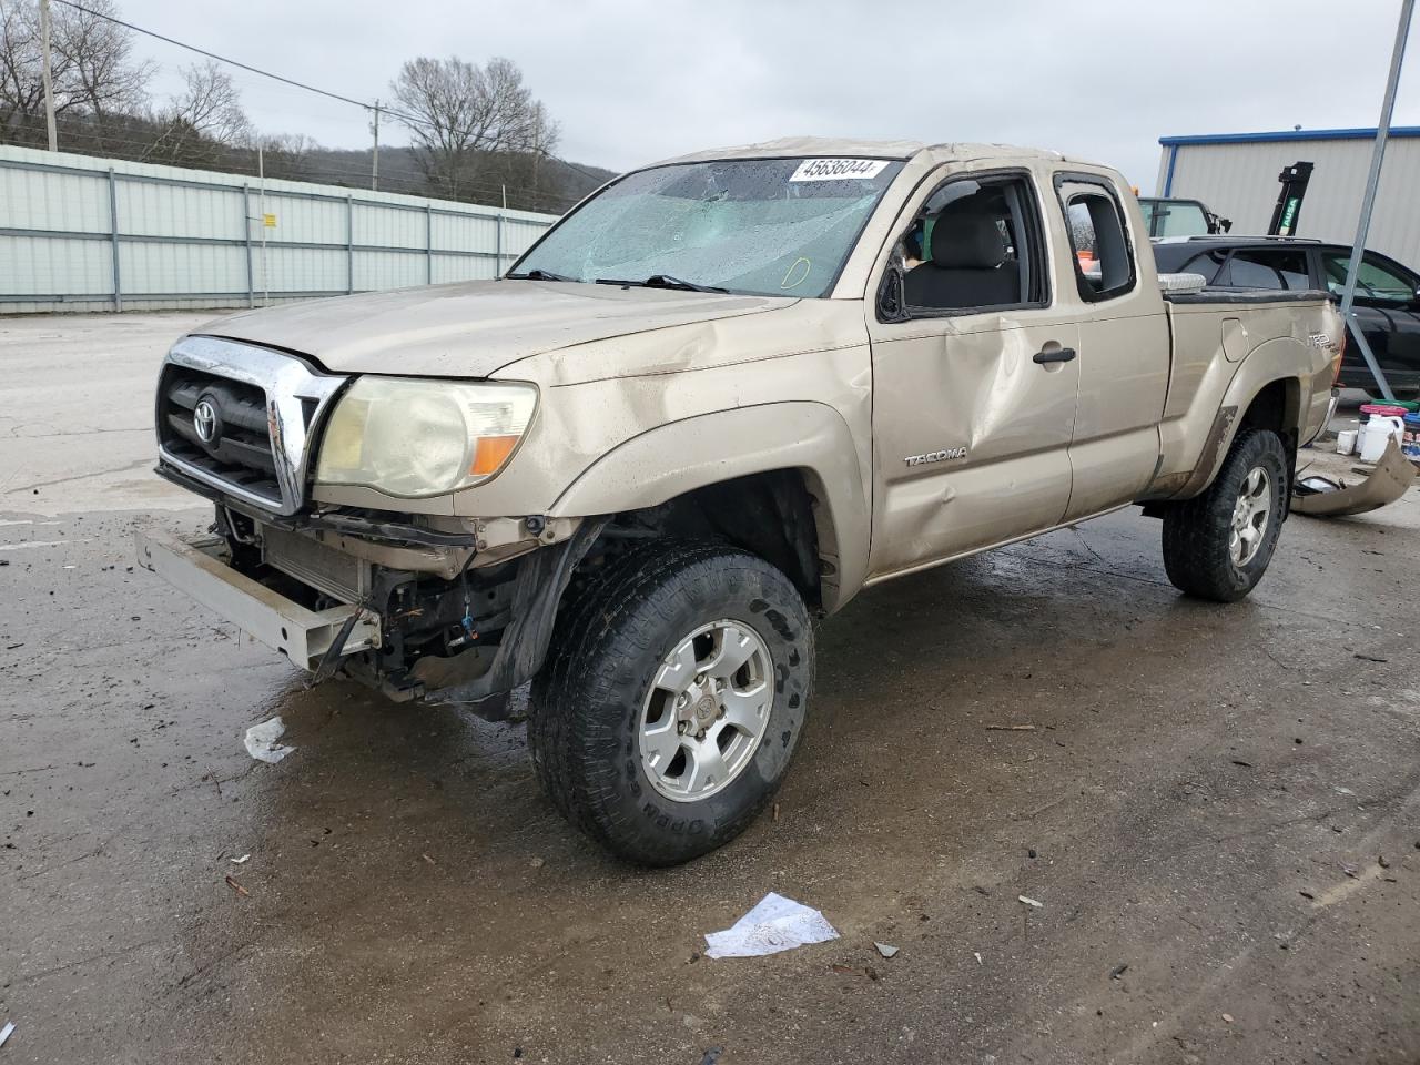
[[(1170, 133), (1375, 125), (1399, 0), (121, 0), (124, 16), (356, 99), (403, 60), (506, 55), (558, 153), (628, 169), (794, 133), (1000, 141), (1108, 162), (1146, 195)], [(1396, 124), (1420, 125), (1420, 31)], [(168, 71), (195, 57), (139, 38)], [(355, 108), (236, 71), (264, 132), (369, 143)], [(390, 129), (386, 141), (402, 142)]]

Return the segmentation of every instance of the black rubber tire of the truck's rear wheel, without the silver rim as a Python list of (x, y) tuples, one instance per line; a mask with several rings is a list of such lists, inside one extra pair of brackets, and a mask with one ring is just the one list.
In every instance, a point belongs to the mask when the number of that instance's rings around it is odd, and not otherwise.
[[(1271, 479), (1271, 518), (1257, 554), (1240, 567), (1228, 551), (1233, 508), (1244, 481), (1257, 467), (1267, 470)], [(1163, 565), (1173, 586), (1214, 602), (1237, 602), (1251, 592), (1277, 550), (1289, 486), (1281, 437), (1269, 429), (1238, 433), (1207, 491), (1164, 513)]]

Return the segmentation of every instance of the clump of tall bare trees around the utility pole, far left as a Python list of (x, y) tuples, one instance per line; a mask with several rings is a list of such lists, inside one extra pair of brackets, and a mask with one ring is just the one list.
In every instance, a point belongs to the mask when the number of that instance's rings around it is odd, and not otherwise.
[[(95, 132), (106, 115), (132, 115), (148, 102), (156, 70), (133, 57), (128, 28), (102, 16), (116, 14), (112, 0), (88, 0), (89, 10), (55, 6), (51, 11), (51, 71), (57, 115), (84, 115)], [(43, 138), (40, 14), (28, 0), (0, 0), (0, 125), (6, 139)]]

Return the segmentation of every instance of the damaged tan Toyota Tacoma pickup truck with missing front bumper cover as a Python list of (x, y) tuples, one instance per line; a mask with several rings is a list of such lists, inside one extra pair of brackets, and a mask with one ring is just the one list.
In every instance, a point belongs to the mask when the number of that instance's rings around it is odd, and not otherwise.
[[(1157, 275), (1110, 169), (794, 139), (589, 196), (497, 281), (178, 341), (158, 471), (216, 504), (145, 565), (311, 670), (506, 713), (636, 862), (738, 834), (798, 747), (814, 619), (1140, 504), (1238, 599), (1326, 422), (1322, 293)], [(950, 604), (943, 609), (951, 609)]]

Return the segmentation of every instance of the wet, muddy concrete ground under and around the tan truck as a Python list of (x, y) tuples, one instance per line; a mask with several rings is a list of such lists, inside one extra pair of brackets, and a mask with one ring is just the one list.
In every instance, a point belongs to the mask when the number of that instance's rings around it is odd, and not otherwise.
[[(1420, 1059), (1420, 491), (1235, 606), (1133, 511), (870, 591), (777, 816), (646, 872), (521, 726), (307, 690), (132, 568), (207, 521), (148, 473), (196, 321), (0, 320), (0, 1061)], [(703, 958), (770, 890), (842, 939)]]

